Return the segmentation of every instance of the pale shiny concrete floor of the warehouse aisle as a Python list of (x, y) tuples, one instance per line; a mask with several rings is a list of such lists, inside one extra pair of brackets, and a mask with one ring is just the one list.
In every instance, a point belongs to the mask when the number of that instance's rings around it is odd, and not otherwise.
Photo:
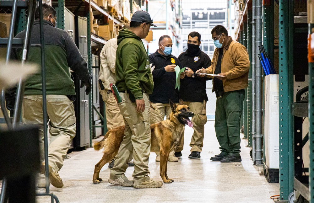
[[(279, 194), (279, 184), (269, 184), (259, 172), (262, 168), (252, 165), (249, 156), (251, 148), (245, 147), (246, 140), (241, 140), (242, 162), (220, 163), (209, 158), (219, 153), (215, 137), (214, 121), (205, 125), (205, 138), (201, 158), (191, 160), (189, 143), (192, 128), (185, 130), (185, 149), (178, 163), (168, 163), (168, 176), (175, 180), (158, 189), (134, 189), (108, 183), (110, 169), (108, 164), (102, 168), (100, 177), (103, 182), (93, 184), (94, 166), (102, 153), (93, 148), (81, 152), (72, 152), (71, 158), (64, 161), (59, 172), (64, 187), (57, 189), (50, 186), (62, 203), (74, 202), (206, 202), (206, 203), (271, 203), (271, 195)], [(98, 139), (99, 140), (99, 139)], [(149, 158), (150, 177), (161, 180), (159, 163), (155, 154)], [(133, 167), (129, 167), (126, 176), (132, 179)], [(40, 191), (44, 191), (41, 189)], [(38, 197), (37, 202), (50, 202), (48, 197)]]

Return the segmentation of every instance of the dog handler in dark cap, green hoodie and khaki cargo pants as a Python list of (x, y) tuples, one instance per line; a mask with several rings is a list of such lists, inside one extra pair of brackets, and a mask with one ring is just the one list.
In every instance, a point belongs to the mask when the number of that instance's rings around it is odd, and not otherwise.
[[(151, 144), (149, 94), (153, 92), (154, 82), (142, 39), (148, 35), (150, 26), (156, 27), (149, 13), (133, 13), (130, 29), (119, 31), (116, 52), (116, 87), (122, 99), (118, 106), (124, 119), (125, 136), (108, 182), (134, 188), (162, 187), (161, 181), (149, 178), (148, 170)], [(134, 182), (125, 176), (127, 163), (132, 158)]]

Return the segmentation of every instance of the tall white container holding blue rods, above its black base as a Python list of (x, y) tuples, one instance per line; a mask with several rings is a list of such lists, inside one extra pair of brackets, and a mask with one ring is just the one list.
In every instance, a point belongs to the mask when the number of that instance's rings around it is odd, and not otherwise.
[(265, 157), (268, 168), (279, 168), (279, 75), (265, 76)]

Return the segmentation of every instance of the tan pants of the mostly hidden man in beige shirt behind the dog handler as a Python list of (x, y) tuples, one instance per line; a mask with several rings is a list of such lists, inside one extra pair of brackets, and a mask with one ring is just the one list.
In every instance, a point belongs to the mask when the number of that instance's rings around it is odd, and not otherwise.
[(106, 104), (106, 120), (108, 131), (112, 128), (123, 126), (123, 116), (120, 113), (119, 106), (111, 91), (100, 90), (103, 101)]

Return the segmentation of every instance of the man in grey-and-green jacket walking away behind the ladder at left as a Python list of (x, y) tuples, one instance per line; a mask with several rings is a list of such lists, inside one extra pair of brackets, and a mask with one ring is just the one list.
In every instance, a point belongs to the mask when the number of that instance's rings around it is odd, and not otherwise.
[[(88, 72), (86, 61), (81, 56), (70, 35), (62, 29), (55, 28), (57, 23), (55, 9), (48, 4), (43, 4), (42, 7), (45, 35), (47, 115), (50, 135), (48, 146), (49, 180), (53, 186), (62, 188), (63, 182), (58, 171), (63, 166), (64, 158), (76, 132), (74, 105), (73, 101), (69, 99), (72, 95), (75, 95), (75, 88), (69, 67), (78, 75), (82, 84), (86, 86), (86, 94), (91, 91), (91, 75)], [(39, 8), (36, 9), (35, 19), (31, 44), (40, 44)], [(24, 38), (25, 30), (17, 34), (16, 37)], [(21, 60), (22, 55), (23, 50), (21, 48), (13, 49), (13, 59)], [(30, 48), (30, 62), (41, 66), (40, 56), (40, 48)], [(8, 103), (14, 104), (15, 97), (12, 100)], [(41, 72), (34, 74), (25, 81), (22, 121), (26, 125), (46, 125), (46, 123), (43, 123)], [(43, 162), (44, 134), (42, 129), (40, 130), (40, 147), (42, 152), (41, 161)], [(40, 171), (42, 174), (40, 174), (41, 179), (38, 180), (38, 187), (44, 188), (44, 163)]]

